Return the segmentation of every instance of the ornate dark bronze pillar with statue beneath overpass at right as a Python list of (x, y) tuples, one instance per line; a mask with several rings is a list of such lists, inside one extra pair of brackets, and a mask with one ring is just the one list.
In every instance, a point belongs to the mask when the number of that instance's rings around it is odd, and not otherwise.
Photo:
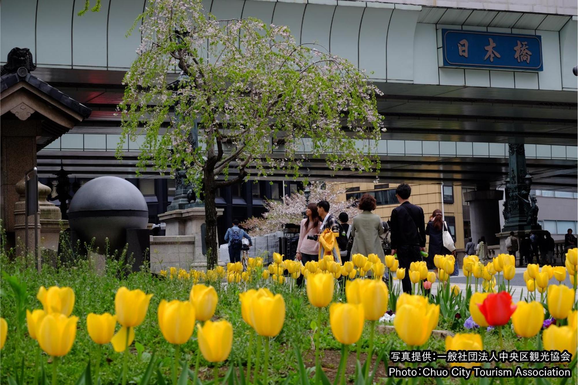
[(526, 168), (523, 143), (509, 143), (510, 173), (506, 179), (502, 231), (540, 230), (536, 197), (530, 195), (532, 176)]

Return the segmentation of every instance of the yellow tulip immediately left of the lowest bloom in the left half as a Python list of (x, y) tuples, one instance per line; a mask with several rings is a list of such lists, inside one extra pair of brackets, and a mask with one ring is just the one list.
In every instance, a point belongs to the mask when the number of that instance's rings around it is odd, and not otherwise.
[(158, 304), (158, 327), (162, 336), (172, 344), (183, 345), (195, 328), (195, 308), (191, 301), (164, 299)]

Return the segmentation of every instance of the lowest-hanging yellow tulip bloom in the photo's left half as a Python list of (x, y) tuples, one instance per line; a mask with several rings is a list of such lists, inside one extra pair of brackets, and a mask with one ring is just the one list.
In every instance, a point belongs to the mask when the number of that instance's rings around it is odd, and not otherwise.
[(233, 326), (225, 320), (206, 321), (197, 325), (199, 349), (205, 360), (223, 362), (229, 357), (233, 346)]

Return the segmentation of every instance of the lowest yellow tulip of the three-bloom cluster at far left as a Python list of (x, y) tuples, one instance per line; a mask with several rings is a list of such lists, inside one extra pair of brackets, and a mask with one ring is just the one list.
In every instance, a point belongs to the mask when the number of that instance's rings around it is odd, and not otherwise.
[(78, 317), (50, 313), (40, 323), (36, 338), (40, 348), (49, 356), (62, 357), (71, 350), (76, 338)]

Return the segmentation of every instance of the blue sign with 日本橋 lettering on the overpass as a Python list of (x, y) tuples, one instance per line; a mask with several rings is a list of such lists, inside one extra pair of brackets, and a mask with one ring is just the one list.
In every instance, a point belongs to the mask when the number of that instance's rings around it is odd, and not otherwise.
[(443, 65), (543, 71), (542, 36), (442, 29)]

